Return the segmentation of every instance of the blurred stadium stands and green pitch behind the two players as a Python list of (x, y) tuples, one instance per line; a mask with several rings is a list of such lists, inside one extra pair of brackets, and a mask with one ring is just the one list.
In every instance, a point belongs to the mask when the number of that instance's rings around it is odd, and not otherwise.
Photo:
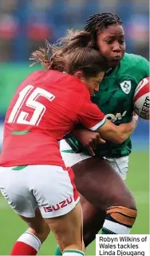
[[(111, 11), (120, 15), (126, 32), (127, 51), (148, 59), (148, 0), (0, 0), (0, 146), (6, 108), (18, 84), (35, 68), (29, 67), (31, 51), (50, 43), (69, 28), (82, 29), (90, 14)], [(148, 121), (139, 120), (132, 136), (133, 152), (129, 164), (128, 186), (139, 209), (132, 234), (149, 234), (149, 162)], [(29, 145), (30, 146), (30, 145)], [(0, 254), (10, 253), (26, 224), (15, 215), (0, 196)], [(53, 254), (53, 236), (42, 246), (39, 255)], [(87, 254), (95, 254), (95, 244)]]

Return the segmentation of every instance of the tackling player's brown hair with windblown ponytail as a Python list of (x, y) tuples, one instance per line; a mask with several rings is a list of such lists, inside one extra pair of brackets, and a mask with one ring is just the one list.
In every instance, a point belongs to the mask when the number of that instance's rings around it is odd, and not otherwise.
[(46, 41), (45, 48), (34, 51), (31, 57), (34, 63), (41, 63), (45, 69), (65, 71), (70, 75), (83, 71), (86, 77), (96, 76), (108, 68), (99, 51), (93, 49), (90, 33), (85, 31), (69, 30), (66, 37), (55, 45)]

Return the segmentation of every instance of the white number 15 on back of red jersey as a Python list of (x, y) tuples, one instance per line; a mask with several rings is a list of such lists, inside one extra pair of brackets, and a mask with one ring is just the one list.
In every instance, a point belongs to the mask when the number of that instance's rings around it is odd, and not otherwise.
[[(45, 91), (39, 87), (35, 88), (35, 90), (30, 94), (30, 91), (32, 91), (33, 88), (33, 85), (27, 85), (22, 91), (20, 91), (18, 100), (10, 113), (8, 120), (9, 123), (16, 122), (17, 124), (30, 124), (38, 126), (39, 122), (41, 121), (41, 117), (44, 115), (46, 110), (45, 106), (37, 101), (38, 97), (43, 96), (47, 100), (52, 101), (54, 100), (55, 96), (49, 91)], [(23, 104), (25, 104), (27, 107), (34, 108), (34, 114), (30, 121), (26, 120), (29, 113), (22, 111)]]

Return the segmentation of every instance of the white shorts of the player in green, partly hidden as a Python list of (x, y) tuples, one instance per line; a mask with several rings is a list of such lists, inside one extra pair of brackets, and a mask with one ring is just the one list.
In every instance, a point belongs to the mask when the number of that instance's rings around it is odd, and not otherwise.
[[(71, 167), (77, 164), (78, 162), (81, 162), (82, 160), (92, 157), (92, 156), (85, 155), (83, 152), (81, 153), (70, 152), (71, 149), (72, 148), (69, 146), (69, 144), (65, 140), (61, 140), (60, 150), (61, 150), (62, 159), (65, 162), (65, 166)], [(128, 156), (123, 156), (120, 158), (107, 158), (107, 157), (104, 157), (104, 158), (109, 161), (109, 164), (113, 167), (113, 169), (115, 169), (116, 173), (120, 174), (120, 177), (124, 181), (128, 173)]]

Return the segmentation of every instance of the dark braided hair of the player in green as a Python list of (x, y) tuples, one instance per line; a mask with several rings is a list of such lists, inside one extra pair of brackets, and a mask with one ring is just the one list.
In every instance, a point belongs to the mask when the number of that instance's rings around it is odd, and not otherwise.
[(122, 24), (122, 21), (117, 14), (93, 14), (86, 21), (86, 26), (84, 29), (91, 34), (95, 46), (97, 44), (97, 35), (101, 32), (101, 30), (115, 24)]

